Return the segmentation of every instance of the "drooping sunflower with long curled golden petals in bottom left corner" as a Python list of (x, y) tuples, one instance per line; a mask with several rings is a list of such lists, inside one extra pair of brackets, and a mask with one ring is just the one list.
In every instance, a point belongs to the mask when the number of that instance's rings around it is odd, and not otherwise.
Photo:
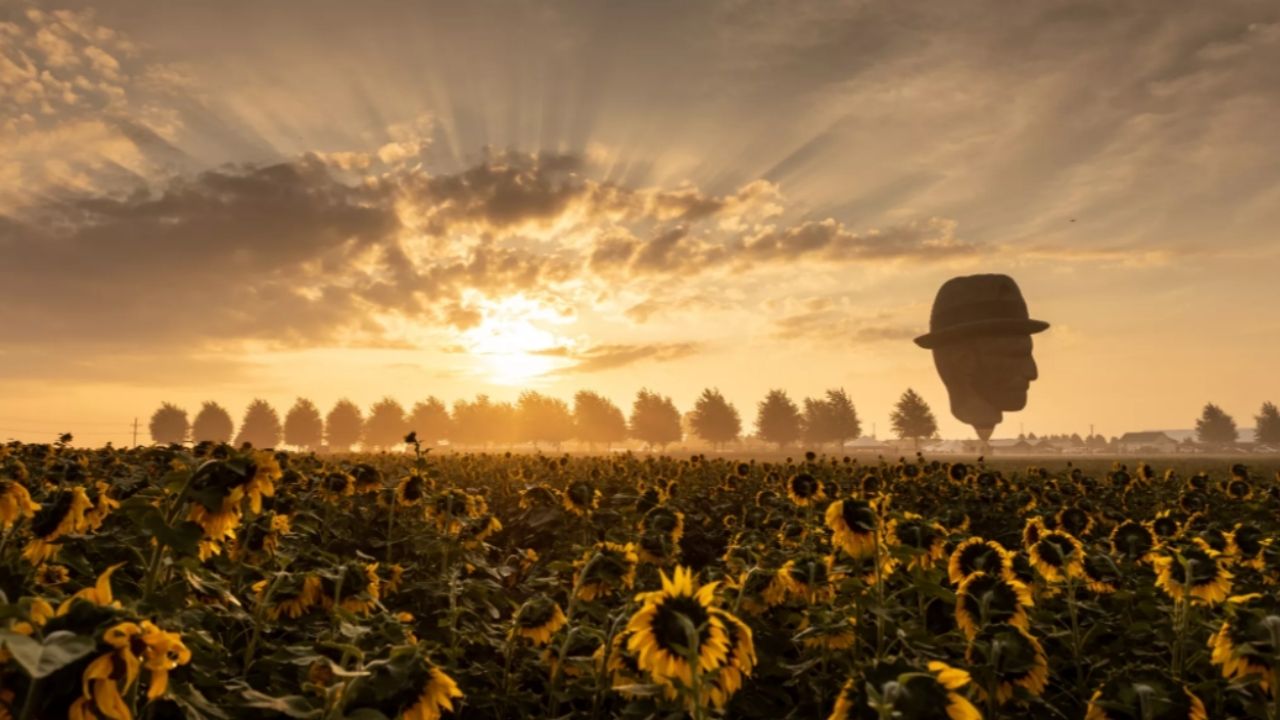
[(84, 669), (81, 697), (72, 703), (69, 717), (132, 720), (124, 696), (140, 671), (150, 671), (147, 700), (155, 700), (168, 689), (169, 671), (191, 661), (178, 633), (166, 633), (147, 620), (116, 623), (102, 633), (99, 647), (102, 653)]

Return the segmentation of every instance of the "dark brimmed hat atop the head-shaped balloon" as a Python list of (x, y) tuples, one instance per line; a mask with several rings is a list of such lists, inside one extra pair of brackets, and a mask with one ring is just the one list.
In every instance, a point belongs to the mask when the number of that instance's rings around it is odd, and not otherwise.
[(973, 336), (1033, 334), (1046, 329), (1048, 323), (1027, 314), (1027, 301), (1014, 278), (965, 275), (938, 288), (929, 332), (915, 338), (915, 345), (933, 348)]

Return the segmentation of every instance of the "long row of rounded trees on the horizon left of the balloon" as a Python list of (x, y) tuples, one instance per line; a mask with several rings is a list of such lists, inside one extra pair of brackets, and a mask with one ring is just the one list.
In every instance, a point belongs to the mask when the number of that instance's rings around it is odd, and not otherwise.
[[(908, 389), (892, 415), (893, 430), (901, 438), (933, 437), (937, 423), (928, 405)], [(822, 446), (855, 439), (861, 423), (852, 400), (844, 389), (828, 389), (819, 397), (806, 397), (796, 405), (785, 391), (774, 389), (759, 402), (756, 436), (785, 447), (799, 441)], [(314, 402), (298, 398), (280, 420), (265, 400), (255, 400), (237, 429), (230, 414), (216, 402), (205, 402), (195, 420), (187, 411), (165, 402), (151, 416), (151, 439), (174, 442), (234, 442), (255, 447), (316, 448), (328, 446), (346, 451), (357, 443), (367, 448), (388, 448), (401, 443), (408, 432), (435, 445), (486, 446), (531, 442), (559, 447), (577, 441), (591, 447), (611, 446), (627, 439), (650, 447), (666, 447), (687, 436), (719, 448), (742, 437), (737, 409), (718, 389), (708, 388), (692, 410), (681, 414), (669, 397), (641, 389), (631, 406), (631, 416), (607, 397), (581, 391), (573, 404), (539, 392), (525, 392), (516, 402), (498, 402), (485, 395), (460, 400), (452, 410), (436, 397), (429, 397), (406, 410), (389, 397), (380, 400), (369, 414), (349, 400), (339, 400), (328, 414)]]

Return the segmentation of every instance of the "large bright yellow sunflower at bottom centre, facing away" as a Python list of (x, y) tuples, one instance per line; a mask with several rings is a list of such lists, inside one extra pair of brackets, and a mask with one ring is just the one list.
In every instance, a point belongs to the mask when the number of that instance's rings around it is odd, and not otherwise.
[(731, 615), (716, 607), (717, 583), (699, 588), (684, 566), (659, 574), (660, 591), (636, 596), (643, 605), (627, 621), (627, 650), (654, 683), (694, 688), (695, 671), (705, 676), (728, 661)]

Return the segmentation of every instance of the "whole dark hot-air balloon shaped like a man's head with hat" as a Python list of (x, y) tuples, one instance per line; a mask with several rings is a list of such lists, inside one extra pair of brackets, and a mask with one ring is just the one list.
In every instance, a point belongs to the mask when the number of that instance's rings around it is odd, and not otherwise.
[(938, 288), (929, 332), (915, 343), (933, 351), (951, 414), (986, 442), (1005, 413), (1027, 406), (1027, 391), (1039, 377), (1032, 336), (1046, 329), (1048, 323), (1030, 319), (1014, 278), (964, 275)]

